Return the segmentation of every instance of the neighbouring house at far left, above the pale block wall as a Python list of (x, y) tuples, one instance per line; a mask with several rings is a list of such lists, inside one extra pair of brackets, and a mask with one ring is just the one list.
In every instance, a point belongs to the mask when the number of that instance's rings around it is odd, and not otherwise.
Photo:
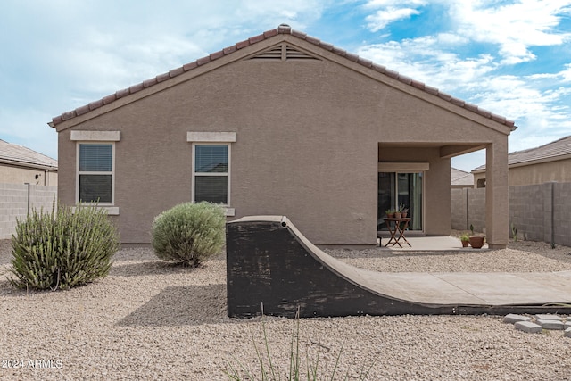
[(57, 186), (57, 161), (0, 139), (0, 183)]

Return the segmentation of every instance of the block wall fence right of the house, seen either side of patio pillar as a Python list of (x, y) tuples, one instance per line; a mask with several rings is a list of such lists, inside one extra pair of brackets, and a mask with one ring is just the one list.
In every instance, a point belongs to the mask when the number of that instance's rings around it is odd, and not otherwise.
[[(452, 228), (484, 231), (485, 188), (451, 190)], [(509, 186), (509, 236), (571, 246), (571, 183)]]

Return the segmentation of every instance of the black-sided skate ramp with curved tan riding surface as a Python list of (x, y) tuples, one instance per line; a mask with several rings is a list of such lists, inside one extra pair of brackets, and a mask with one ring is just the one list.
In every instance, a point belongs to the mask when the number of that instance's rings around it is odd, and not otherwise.
[(571, 313), (571, 271), (381, 273), (321, 251), (282, 216), (227, 224), (228, 316)]

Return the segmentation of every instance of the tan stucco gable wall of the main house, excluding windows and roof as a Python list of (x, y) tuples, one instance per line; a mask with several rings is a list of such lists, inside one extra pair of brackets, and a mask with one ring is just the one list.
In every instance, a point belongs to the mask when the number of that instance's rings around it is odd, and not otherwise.
[[(125, 243), (149, 242), (153, 217), (191, 199), (186, 132), (234, 131), (235, 218), (283, 214), (316, 244), (376, 244), (379, 160), (430, 162), (426, 233), (449, 234), (450, 159), (438, 145), (507, 140), (424, 96), (433, 95), (406, 95), (327, 60), (238, 61), (70, 129), (121, 131), (115, 204)], [(70, 129), (59, 134), (62, 203), (75, 202)], [(410, 141), (429, 146), (383, 146)]]

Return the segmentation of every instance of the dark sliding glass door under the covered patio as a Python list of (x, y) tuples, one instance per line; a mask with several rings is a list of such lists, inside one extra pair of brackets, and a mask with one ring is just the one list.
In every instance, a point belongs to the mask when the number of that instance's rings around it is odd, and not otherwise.
[(422, 230), (423, 172), (378, 172), (377, 230), (385, 230), (386, 211), (409, 210), (410, 230)]

